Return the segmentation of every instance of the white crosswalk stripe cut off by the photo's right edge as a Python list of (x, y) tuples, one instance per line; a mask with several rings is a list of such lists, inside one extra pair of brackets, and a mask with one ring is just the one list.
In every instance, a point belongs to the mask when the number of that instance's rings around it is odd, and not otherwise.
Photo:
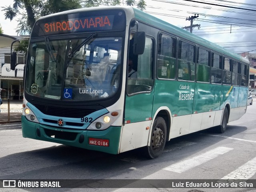
[(221, 179), (250, 179), (256, 173), (256, 157)]

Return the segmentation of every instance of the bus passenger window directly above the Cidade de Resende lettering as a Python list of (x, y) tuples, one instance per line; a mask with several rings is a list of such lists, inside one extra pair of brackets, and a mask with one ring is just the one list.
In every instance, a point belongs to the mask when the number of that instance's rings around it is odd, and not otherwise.
[(195, 79), (195, 46), (183, 41), (178, 45), (178, 79)]

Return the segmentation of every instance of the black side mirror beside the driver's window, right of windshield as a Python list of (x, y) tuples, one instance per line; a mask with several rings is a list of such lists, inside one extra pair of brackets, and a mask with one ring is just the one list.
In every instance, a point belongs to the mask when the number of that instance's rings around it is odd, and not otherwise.
[(144, 53), (146, 33), (144, 31), (134, 34), (133, 54), (141, 55)]

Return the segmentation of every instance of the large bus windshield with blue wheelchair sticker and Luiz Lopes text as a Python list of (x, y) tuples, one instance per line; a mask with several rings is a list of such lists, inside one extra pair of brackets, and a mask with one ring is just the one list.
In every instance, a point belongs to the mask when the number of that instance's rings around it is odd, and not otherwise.
[(26, 93), (90, 101), (113, 96), (119, 86), (121, 37), (69, 38), (31, 42)]

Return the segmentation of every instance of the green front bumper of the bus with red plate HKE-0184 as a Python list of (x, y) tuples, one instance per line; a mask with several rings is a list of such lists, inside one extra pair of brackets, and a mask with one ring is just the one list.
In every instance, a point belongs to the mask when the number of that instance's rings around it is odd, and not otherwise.
[(23, 137), (118, 154), (121, 127), (110, 126), (103, 131), (87, 131), (34, 123), (28, 121), (24, 115), (21, 120)]

